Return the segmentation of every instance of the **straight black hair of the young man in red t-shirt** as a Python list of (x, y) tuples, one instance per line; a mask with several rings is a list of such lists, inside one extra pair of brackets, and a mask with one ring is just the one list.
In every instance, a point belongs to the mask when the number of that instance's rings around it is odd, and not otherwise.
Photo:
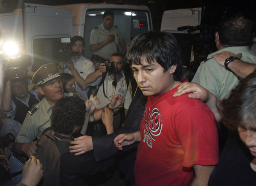
[(142, 65), (142, 56), (145, 56), (148, 63), (159, 63), (164, 72), (172, 65), (177, 65), (174, 80), (180, 80), (182, 57), (180, 46), (172, 34), (148, 31), (134, 37), (128, 44), (126, 58), (130, 65)]

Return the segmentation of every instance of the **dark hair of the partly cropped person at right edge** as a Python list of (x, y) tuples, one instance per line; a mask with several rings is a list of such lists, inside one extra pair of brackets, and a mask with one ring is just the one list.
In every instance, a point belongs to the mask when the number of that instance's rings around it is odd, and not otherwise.
[(221, 121), (230, 129), (256, 128), (256, 70), (242, 79), (227, 99), (218, 105)]

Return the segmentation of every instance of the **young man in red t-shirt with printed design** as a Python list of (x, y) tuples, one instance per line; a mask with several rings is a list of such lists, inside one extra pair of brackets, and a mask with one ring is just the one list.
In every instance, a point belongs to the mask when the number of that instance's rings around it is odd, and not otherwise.
[(218, 133), (212, 111), (187, 95), (173, 97), (182, 83), (180, 48), (172, 34), (146, 32), (128, 45), (127, 59), (148, 102), (140, 131), (120, 134), (118, 149), (141, 141), (135, 186), (207, 185), (218, 163)]

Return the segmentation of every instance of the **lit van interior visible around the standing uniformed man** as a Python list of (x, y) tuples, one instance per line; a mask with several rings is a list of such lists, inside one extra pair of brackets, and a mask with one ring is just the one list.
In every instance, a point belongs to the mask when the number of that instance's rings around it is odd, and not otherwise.
[[(105, 11), (110, 10), (114, 14), (114, 25), (119, 28), (125, 40), (125, 45), (138, 34), (150, 30), (150, 16), (147, 11), (128, 9), (92, 9), (86, 11), (84, 25), (84, 56), (90, 59), (93, 54), (90, 51), (90, 33), (93, 28), (102, 24), (102, 16)], [(119, 46), (119, 50), (122, 49)]]

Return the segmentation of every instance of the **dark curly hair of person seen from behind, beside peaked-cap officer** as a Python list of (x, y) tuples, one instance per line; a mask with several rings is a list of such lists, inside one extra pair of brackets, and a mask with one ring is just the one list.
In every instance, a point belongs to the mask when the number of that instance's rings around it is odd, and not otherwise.
[(59, 99), (52, 108), (52, 129), (60, 134), (69, 135), (75, 126), (84, 122), (85, 104), (78, 96)]

